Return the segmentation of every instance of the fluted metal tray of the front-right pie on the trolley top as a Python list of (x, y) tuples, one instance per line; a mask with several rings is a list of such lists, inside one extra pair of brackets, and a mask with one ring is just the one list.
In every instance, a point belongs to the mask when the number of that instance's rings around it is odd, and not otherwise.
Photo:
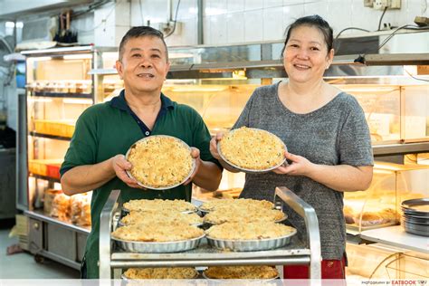
[(205, 236), (207, 243), (219, 249), (229, 249), (233, 252), (256, 252), (265, 251), (274, 248), (282, 247), (291, 243), (291, 237), (297, 233), (294, 230), (291, 234), (287, 234), (276, 238), (254, 239), (254, 240), (225, 240), (211, 238)]

